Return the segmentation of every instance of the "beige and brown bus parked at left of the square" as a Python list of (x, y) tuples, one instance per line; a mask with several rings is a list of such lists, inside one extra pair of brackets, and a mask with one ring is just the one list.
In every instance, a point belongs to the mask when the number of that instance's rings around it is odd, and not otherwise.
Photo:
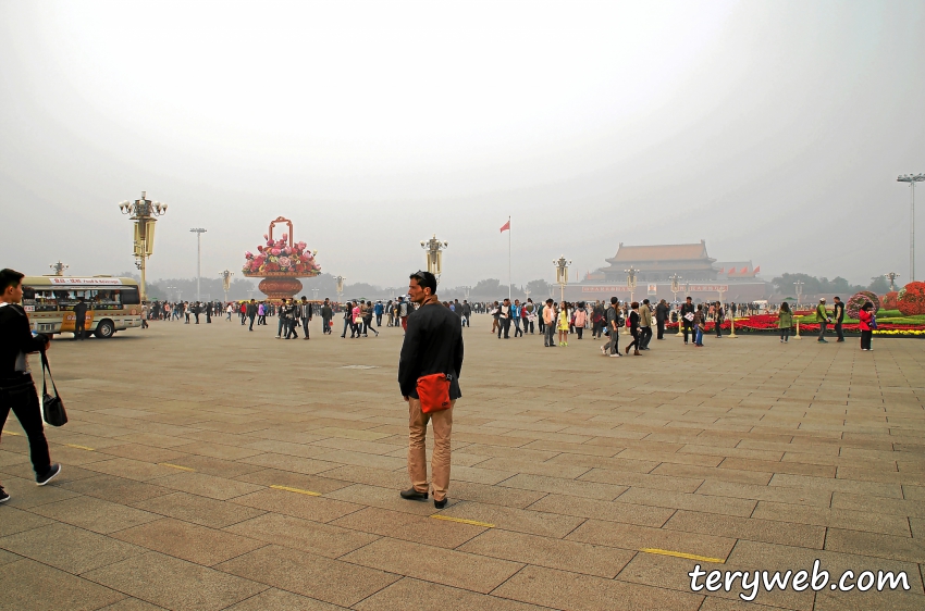
[(112, 276), (26, 276), (23, 309), (36, 333), (53, 335), (74, 332), (74, 306), (83, 297), (87, 304), (84, 329), (107, 339), (118, 331), (141, 326), (138, 283)]

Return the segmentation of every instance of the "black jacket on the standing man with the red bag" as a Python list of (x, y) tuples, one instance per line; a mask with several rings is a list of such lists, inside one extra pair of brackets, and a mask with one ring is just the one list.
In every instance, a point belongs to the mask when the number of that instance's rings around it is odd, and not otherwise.
[(398, 359), (398, 387), (403, 397), (418, 398), (418, 378), (432, 373), (452, 375), (449, 399), (462, 396), (462, 327), (459, 319), (442, 303), (429, 303), (411, 312), (402, 356)]

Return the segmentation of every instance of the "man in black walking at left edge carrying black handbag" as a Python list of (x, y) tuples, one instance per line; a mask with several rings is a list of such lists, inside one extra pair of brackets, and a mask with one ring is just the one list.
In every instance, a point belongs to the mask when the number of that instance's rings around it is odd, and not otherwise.
[[(61, 465), (52, 463), (48, 453), (38, 392), (26, 354), (48, 350), (50, 344), (46, 336), (33, 337), (29, 331), (28, 316), (20, 306), (23, 275), (14, 270), (0, 270), (0, 432), (13, 410), (29, 440), (36, 484), (45, 486), (61, 473)], [(0, 486), (0, 503), (8, 500), (10, 495)]]

